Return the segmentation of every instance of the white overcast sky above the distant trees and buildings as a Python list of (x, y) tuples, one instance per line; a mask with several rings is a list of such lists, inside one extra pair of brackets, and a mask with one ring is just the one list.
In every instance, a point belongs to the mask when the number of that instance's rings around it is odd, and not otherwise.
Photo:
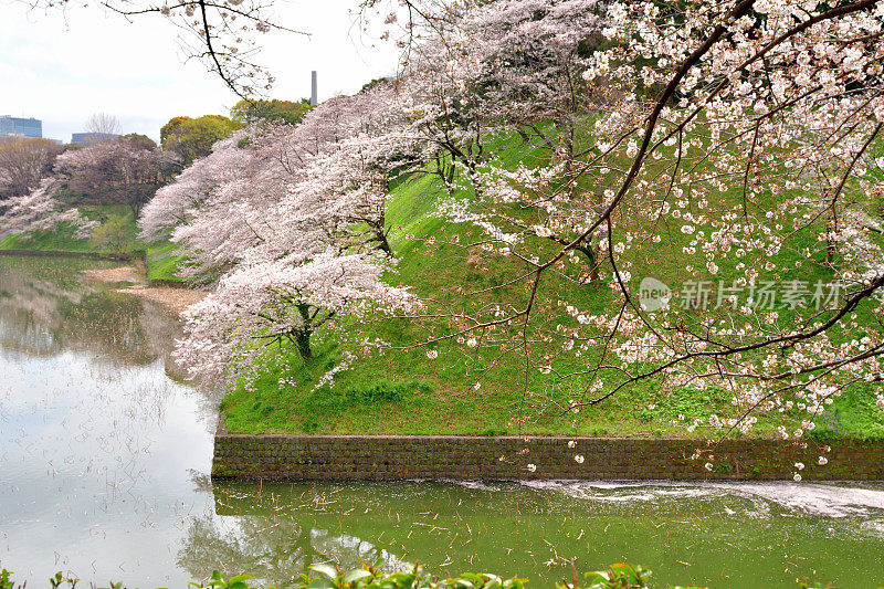
[[(394, 48), (372, 46), (352, 25), (357, 6), (277, 3), (277, 20), (311, 36), (262, 35), (259, 61), (276, 77), (272, 97), (309, 96), (312, 70), (318, 71), (320, 101), (396, 71)], [(46, 14), (0, 0), (0, 115), (40, 118), (44, 137), (66, 143), (97, 112), (116, 115), (124, 133), (155, 139), (172, 116), (229, 114), (236, 96), (203, 64), (182, 63), (177, 35), (159, 15), (128, 23), (97, 7)]]

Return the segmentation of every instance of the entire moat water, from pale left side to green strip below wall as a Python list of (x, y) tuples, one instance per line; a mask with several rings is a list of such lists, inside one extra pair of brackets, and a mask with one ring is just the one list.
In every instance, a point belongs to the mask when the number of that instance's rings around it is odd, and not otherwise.
[(93, 266), (0, 256), (0, 565), (29, 587), (213, 568), (285, 586), (378, 558), (529, 587), (570, 560), (640, 562), (656, 586), (884, 586), (880, 484), (213, 484), (217, 399), (171, 369), (180, 326)]

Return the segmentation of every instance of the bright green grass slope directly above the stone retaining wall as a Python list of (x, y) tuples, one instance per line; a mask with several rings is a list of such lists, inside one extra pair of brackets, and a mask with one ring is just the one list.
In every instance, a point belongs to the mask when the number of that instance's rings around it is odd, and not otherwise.
[[(518, 138), (503, 140), (496, 146), (498, 158), (509, 166), (518, 161), (543, 160), (541, 149), (522, 145)], [(736, 199), (739, 189), (722, 194)], [(462, 303), (465, 292), (475, 292), (499, 284), (513, 276), (513, 267), (505, 267), (499, 256), (481, 257), (459, 245), (478, 238), (466, 225), (450, 223), (434, 214), (435, 203), (442, 194), (434, 177), (407, 178), (392, 189), (387, 210), (387, 222), (392, 228), (391, 242), (400, 260), (399, 272), (392, 282), (411, 285), (414, 292), (453, 304)], [(632, 270), (633, 280), (653, 275), (670, 284), (690, 280), (678, 252), (690, 239), (670, 228), (669, 235), (655, 250), (641, 252), (644, 262)], [(807, 235), (808, 243), (812, 243)], [(435, 240), (430, 244), (428, 240)], [(776, 259), (786, 267), (801, 257), (794, 252), (782, 252)], [(812, 262), (812, 261), (811, 261)], [(716, 280), (729, 281), (744, 275), (730, 262), (722, 262)], [(793, 264), (792, 264), (793, 265)], [(821, 264), (808, 263), (800, 277), (810, 281), (831, 280)], [(785, 278), (785, 276), (778, 276)], [(694, 278), (696, 280), (696, 278)], [(610, 306), (611, 293), (607, 285), (575, 285), (566, 281), (547, 283), (546, 294), (567, 294), (588, 309)], [(524, 288), (523, 288), (524, 291)], [(486, 302), (516, 299), (524, 293), (485, 295)], [(517, 303), (514, 303), (517, 305)], [(573, 325), (573, 319), (560, 309), (541, 309), (541, 323), (554, 327), (556, 323)], [(788, 322), (788, 311), (781, 320)], [(543, 326), (541, 326), (543, 327)], [(713, 413), (734, 414), (730, 396), (717, 387), (705, 390), (661, 390), (654, 379), (644, 380), (601, 404), (583, 408), (579, 413), (565, 413), (561, 402), (580, 398), (581, 379), (557, 381), (555, 374), (536, 371), (526, 377), (524, 359), (516, 354), (496, 361), (497, 351), (467, 350), (454, 343), (434, 345), (439, 358), (428, 359), (425, 348), (408, 346), (425, 337), (418, 326), (402, 322), (380, 322), (365, 325), (344, 322), (344, 330), (361, 336), (380, 337), (393, 346), (406, 349), (371, 354), (360, 357), (351, 369), (336, 376), (336, 383), (314, 390), (317, 379), (341, 358), (334, 337), (322, 338), (313, 358), (303, 361), (294, 349), (276, 349), (267, 356), (262, 375), (245, 386), (233, 387), (222, 403), (227, 427), (232, 432), (295, 432), (295, 433), (406, 433), (406, 434), (540, 434), (610, 435), (610, 437), (690, 437), (717, 438), (720, 431), (699, 427), (686, 430), (686, 420), (699, 418), (704, 423)], [(834, 337), (849, 337), (836, 334)], [(536, 348), (535, 348), (536, 349)], [(549, 350), (552, 353), (554, 350)], [(540, 351), (543, 354), (543, 350)], [(565, 356), (554, 361), (558, 372), (580, 370), (591, 360), (592, 350), (583, 358)], [(581, 360), (583, 360), (581, 362)], [(280, 386), (282, 370), (291, 375), (291, 383)], [(481, 388), (473, 388), (481, 380)], [(556, 404), (556, 401), (559, 404)], [(651, 410), (650, 407), (654, 406)], [(766, 414), (753, 435), (772, 435), (779, 424), (794, 428), (799, 413)], [(828, 408), (818, 420), (814, 432), (819, 438), (852, 437), (884, 439), (884, 412), (875, 406), (871, 387), (852, 386), (843, 397)], [(739, 434), (734, 432), (734, 434)]]

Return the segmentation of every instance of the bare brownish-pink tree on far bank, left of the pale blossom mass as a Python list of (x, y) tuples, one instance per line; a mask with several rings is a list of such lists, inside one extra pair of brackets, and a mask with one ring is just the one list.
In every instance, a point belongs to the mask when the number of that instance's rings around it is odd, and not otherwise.
[(74, 204), (124, 204), (135, 217), (179, 170), (178, 156), (157, 149), (144, 135), (65, 152), (55, 166), (57, 181)]

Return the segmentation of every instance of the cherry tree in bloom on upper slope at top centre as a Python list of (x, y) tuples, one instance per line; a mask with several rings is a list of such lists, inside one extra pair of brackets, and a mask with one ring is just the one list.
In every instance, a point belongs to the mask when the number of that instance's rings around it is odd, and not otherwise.
[[(431, 23), (424, 28), (441, 32), (412, 46), (403, 71), (407, 92), (420, 105), (421, 123), (438, 147), (435, 171), (450, 187), (481, 194), (488, 188), (483, 185), (501, 180), (478, 173), (480, 169), (487, 172), (487, 166), (501, 156), (499, 148), (491, 148), (490, 143), (516, 135), (526, 146), (545, 149), (545, 157), (570, 173), (585, 157), (575, 150), (578, 133), (609, 99), (607, 90), (581, 77), (589, 55), (602, 43), (603, 4), (594, 0), (465, 2), (454, 10), (456, 18), (450, 21), (434, 18), (438, 10), (421, 12)], [(578, 196), (575, 182), (568, 187), (569, 202), (599, 200), (597, 194)], [(503, 210), (497, 208), (498, 213)], [(514, 215), (505, 221), (515, 231), (539, 234), (560, 245), (577, 234), (567, 223), (535, 220), (526, 224)], [(538, 228), (539, 233), (534, 231)], [(593, 245), (579, 244), (576, 251), (588, 259), (590, 274), (597, 278)]]

